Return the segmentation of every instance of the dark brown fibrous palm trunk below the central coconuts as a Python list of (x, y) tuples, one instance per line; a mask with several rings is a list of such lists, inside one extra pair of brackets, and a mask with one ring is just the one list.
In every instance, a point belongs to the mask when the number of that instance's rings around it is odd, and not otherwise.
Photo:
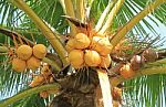
[(63, 87), (63, 93), (53, 98), (50, 107), (97, 107), (95, 90), (98, 78), (96, 72), (93, 69), (76, 72), (63, 81), (58, 79)]

